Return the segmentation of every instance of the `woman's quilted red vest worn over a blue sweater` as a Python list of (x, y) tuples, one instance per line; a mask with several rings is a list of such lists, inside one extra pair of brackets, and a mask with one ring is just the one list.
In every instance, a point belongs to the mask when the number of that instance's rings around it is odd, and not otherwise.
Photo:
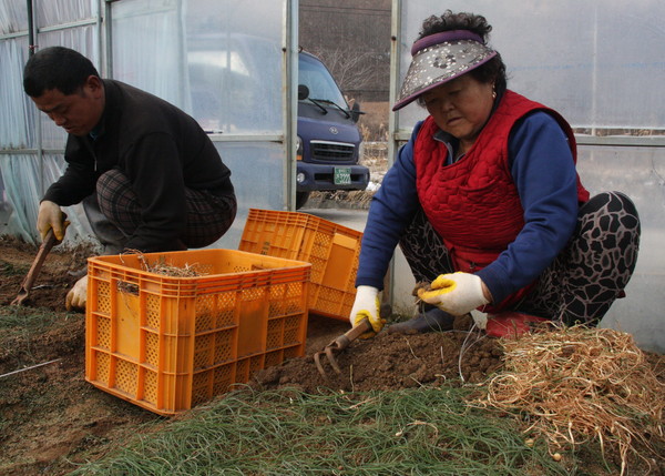
[[(567, 122), (556, 111), (512, 91), (505, 92), (467, 154), (451, 165), (446, 165), (447, 146), (433, 139), (439, 130), (433, 118), (430, 115), (420, 128), (413, 150), (418, 198), (443, 239), (456, 271), (483, 269), (524, 226), (524, 211), (510, 173), (508, 139), (515, 122), (534, 110), (545, 111), (559, 122), (576, 162), (575, 138)], [(577, 199), (580, 203), (589, 200), (580, 176)], [(494, 311), (518, 302), (532, 285), (495, 303)]]

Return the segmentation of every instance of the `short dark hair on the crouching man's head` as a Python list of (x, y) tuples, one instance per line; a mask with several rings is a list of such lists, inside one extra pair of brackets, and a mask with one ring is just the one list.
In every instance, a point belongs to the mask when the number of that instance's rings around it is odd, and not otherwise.
[(57, 89), (64, 95), (78, 92), (89, 77), (99, 77), (88, 58), (64, 47), (50, 47), (34, 53), (23, 68), (23, 90), (31, 98)]

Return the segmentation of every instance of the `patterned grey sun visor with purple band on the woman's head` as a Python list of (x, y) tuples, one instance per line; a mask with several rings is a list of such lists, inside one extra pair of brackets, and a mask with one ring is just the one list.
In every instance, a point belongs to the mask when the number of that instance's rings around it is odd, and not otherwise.
[(411, 55), (413, 59), (393, 111), (411, 103), (423, 92), (487, 63), (497, 55), (497, 51), (485, 47), (482, 38), (469, 30), (452, 30), (416, 41)]

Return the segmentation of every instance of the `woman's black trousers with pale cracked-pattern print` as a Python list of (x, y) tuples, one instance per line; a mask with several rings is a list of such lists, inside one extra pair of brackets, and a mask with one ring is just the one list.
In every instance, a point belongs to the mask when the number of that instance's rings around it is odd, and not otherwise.
[[(640, 217), (621, 192), (580, 207), (573, 236), (533, 290), (511, 310), (565, 324), (596, 325), (622, 297), (637, 262)], [(420, 211), (400, 241), (417, 282), (454, 272), (443, 241)]]

